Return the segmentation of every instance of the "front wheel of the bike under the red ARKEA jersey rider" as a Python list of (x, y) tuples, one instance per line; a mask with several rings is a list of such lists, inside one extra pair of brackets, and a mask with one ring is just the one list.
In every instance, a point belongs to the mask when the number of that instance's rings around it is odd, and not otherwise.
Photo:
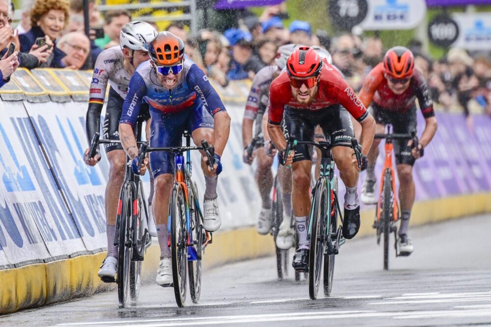
[[(330, 201), (330, 198), (329, 198)], [(308, 288), (311, 300), (317, 299), (324, 258), (324, 237), (326, 233), (327, 186), (322, 178), (315, 187), (315, 194), (310, 211), (310, 251), (308, 263)]]

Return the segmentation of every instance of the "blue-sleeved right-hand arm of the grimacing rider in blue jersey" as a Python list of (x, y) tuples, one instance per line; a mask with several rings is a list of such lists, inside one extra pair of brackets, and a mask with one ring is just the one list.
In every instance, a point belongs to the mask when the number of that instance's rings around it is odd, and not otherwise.
[(215, 129), (213, 132), (213, 146), (215, 153), (221, 156), (230, 134), (230, 116), (228, 115), (220, 96), (208, 81), (208, 77), (203, 71), (193, 64), (187, 75), (188, 85), (201, 98), (203, 106), (213, 116)]

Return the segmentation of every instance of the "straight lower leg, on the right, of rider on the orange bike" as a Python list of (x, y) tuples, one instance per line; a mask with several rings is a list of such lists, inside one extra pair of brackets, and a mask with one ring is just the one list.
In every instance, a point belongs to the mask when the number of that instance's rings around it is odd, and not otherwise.
[(399, 201), (401, 204), (401, 225), (399, 235), (408, 234), (409, 218), (416, 188), (412, 179), (412, 166), (410, 164), (398, 164), (397, 176), (399, 177)]

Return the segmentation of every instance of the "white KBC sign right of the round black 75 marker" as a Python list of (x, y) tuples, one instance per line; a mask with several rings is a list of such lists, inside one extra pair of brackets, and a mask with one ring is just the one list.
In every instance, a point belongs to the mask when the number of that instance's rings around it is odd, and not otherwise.
[(426, 15), (424, 0), (371, 0), (360, 27), (364, 30), (411, 29)]

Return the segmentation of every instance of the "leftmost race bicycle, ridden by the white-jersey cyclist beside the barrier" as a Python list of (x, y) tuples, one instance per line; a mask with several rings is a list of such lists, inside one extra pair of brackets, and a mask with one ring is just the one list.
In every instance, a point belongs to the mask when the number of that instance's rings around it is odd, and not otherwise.
[[(141, 122), (137, 123), (137, 139), (140, 138)], [(99, 144), (120, 143), (120, 141), (99, 139), (96, 132), (90, 143), (89, 158), (96, 155)], [(142, 144), (143, 142), (137, 142)], [(118, 265), (116, 283), (118, 284), (118, 300), (124, 307), (130, 293), (130, 299), (138, 299), (141, 284), (141, 262), (145, 250), (151, 245), (148, 233), (148, 209), (143, 184), (140, 176), (133, 173), (131, 162), (127, 157), (126, 175), (119, 193), (118, 211), (114, 245), (118, 247)], [(143, 215), (143, 217), (142, 217)], [(104, 279), (103, 279), (104, 280)], [(104, 280), (112, 282), (114, 280)]]

